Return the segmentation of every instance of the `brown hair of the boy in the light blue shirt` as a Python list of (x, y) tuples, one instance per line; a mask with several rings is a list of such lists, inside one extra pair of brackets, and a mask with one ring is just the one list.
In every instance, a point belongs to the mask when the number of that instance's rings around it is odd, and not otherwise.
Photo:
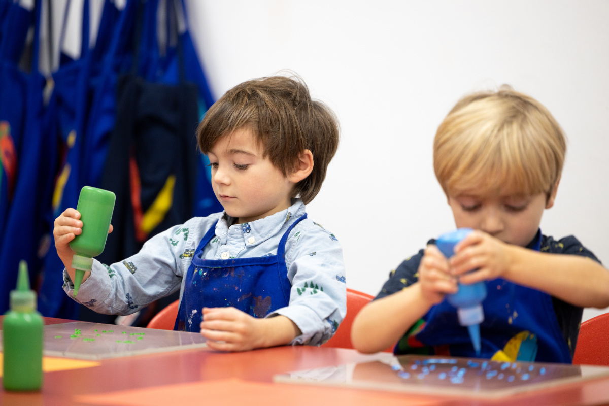
[(248, 80), (227, 91), (212, 105), (197, 128), (205, 154), (216, 142), (240, 128), (253, 130), (264, 157), (283, 172), (297, 169), (298, 156), (310, 150), (311, 174), (298, 182), (291, 197), (309, 203), (322, 187), (328, 164), (339, 143), (339, 125), (324, 103), (312, 100), (298, 77), (272, 76)]

